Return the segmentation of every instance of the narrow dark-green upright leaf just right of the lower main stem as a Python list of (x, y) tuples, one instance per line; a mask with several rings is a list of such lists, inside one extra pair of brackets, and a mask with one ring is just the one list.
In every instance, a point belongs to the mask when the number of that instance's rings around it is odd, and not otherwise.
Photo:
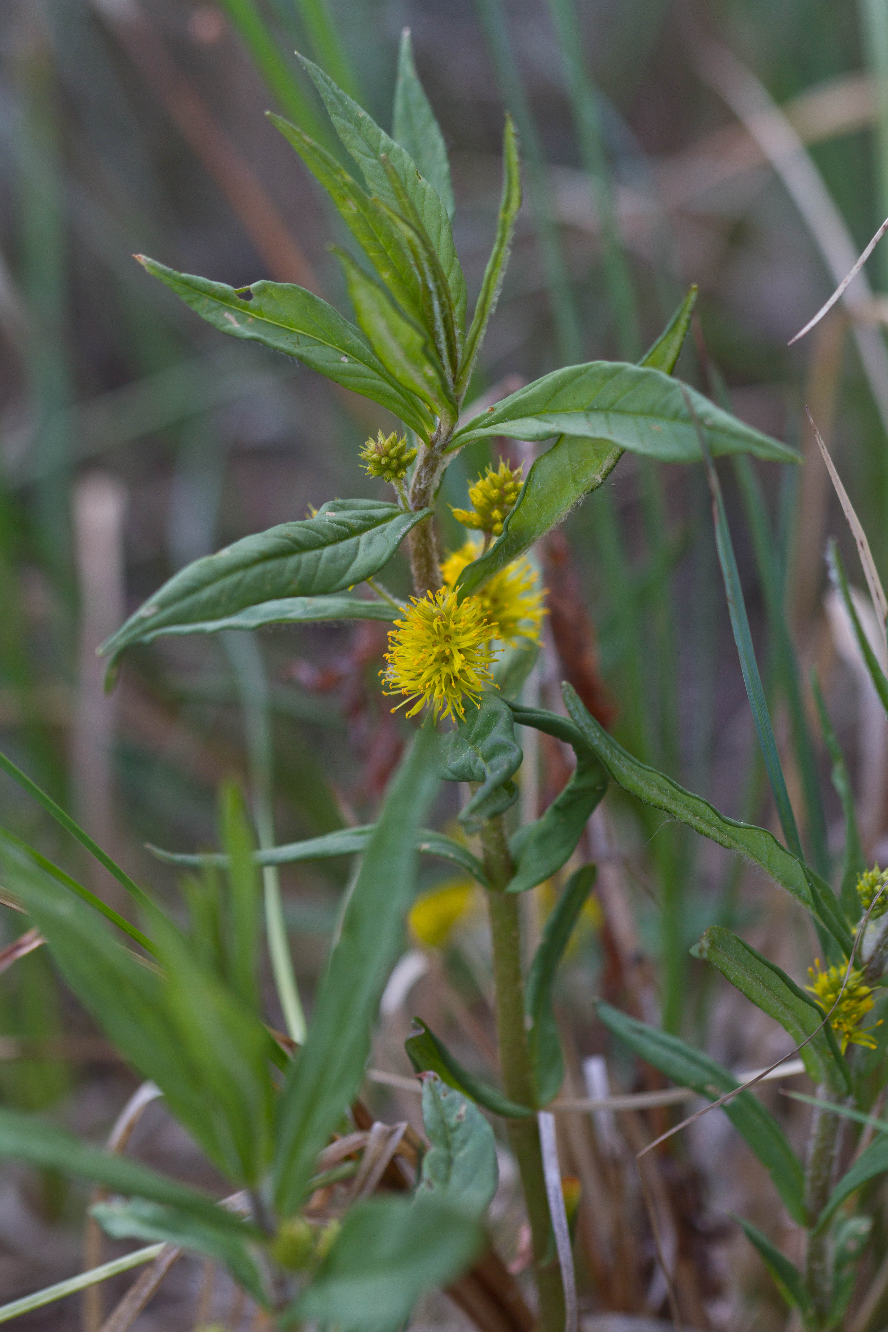
[(558, 906), (546, 922), (527, 976), (525, 1007), (533, 1023), (527, 1039), (537, 1082), (537, 1102), (541, 1106), (547, 1106), (558, 1095), (564, 1080), (564, 1060), (553, 1008), (553, 984), (558, 963), (564, 955), (594, 882), (594, 864), (584, 864), (571, 875), (558, 899)]

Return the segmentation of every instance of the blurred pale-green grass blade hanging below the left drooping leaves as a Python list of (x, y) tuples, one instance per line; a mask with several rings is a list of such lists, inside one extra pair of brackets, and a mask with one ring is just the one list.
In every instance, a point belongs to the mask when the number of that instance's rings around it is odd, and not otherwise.
[[(250, 769), (253, 818), (260, 850), (274, 846), (274, 746), (272, 741), (268, 681), (258, 643), (252, 634), (225, 634), (225, 650), (232, 663), (241, 697), (246, 753)], [(262, 866), (265, 894), (265, 930), (277, 996), (290, 1039), (305, 1040), (305, 1012), (293, 971), (293, 958), (286, 936), (281, 880), (276, 864)]]

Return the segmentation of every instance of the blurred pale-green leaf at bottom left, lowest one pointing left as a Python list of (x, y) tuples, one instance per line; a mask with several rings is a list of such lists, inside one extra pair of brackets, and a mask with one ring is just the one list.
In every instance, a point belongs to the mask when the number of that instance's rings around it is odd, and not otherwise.
[[(204, 1217), (198, 1219), (176, 1207), (144, 1199), (93, 1203), (89, 1211), (112, 1239), (162, 1240), (165, 1244), (177, 1244), (222, 1263), (260, 1305), (269, 1307), (261, 1269), (250, 1253), (249, 1232), (238, 1235), (229, 1224), (209, 1224)], [(222, 1212), (222, 1208), (217, 1211)], [(241, 1227), (246, 1229), (242, 1223)], [(252, 1237), (258, 1239), (258, 1233), (253, 1232)]]

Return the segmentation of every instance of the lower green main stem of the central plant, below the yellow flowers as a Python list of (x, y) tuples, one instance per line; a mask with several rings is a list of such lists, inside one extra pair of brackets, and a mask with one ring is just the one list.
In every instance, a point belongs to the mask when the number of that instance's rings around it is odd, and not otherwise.
[[(525, 1026), (521, 916), (517, 895), (505, 891), (514, 866), (502, 818), (489, 819), (481, 831), (485, 871), (493, 884), (487, 892), (497, 988), (497, 1038), (503, 1091), (510, 1100), (535, 1106), (534, 1071)], [(546, 1176), (539, 1150), (537, 1118), (510, 1119), (509, 1142), (518, 1162), (527, 1219), (534, 1244), (534, 1269), (539, 1292), (541, 1332), (563, 1332), (564, 1289), (553, 1239)]]

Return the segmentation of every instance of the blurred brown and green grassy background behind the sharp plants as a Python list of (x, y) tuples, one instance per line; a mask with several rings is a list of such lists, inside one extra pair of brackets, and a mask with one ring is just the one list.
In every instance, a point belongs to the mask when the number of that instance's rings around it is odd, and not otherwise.
[[(173, 906), (180, 886), (144, 843), (214, 844), (216, 791), (230, 774), (257, 813), (272, 811), (278, 840), (373, 818), (402, 743), (377, 687), (375, 626), (166, 639), (130, 654), (109, 698), (95, 647), (186, 561), (333, 496), (381, 493), (355, 460), (385, 413), (270, 352), (225, 345), (132, 256), (234, 286), (298, 282), (345, 309), (325, 248), (345, 241), (342, 228), (264, 111), (329, 144), (298, 48), (389, 127), (403, 25), (451, 152), (455, 238), (473, 292), (495, 224), (506, 108), (522, 139), (525, 206), (473, 396), (502, 396), (562, 364), (636, 360), (695, 282), (698, 336), (678, 373), (804, 450), (804, 469), (723, 466), (728, 515), (805, 848), (828, 870), (843, 839), (807, 685), (816, 665), (864, 854), (884, 863), (888, 733), (841, 617), (824, 601), (827, 535), (839, 535), (863, 579), (804, 405), (884, 578), (888, 249), (868, 265), (869, 290), (859, 281), (849, 306), (787, 348), (888, 212), (883, 0), (4, 0), (3, 749)], [(486, 461), (527, 461), (525, 449), (499, 441), (466, 450), (443, 498), (465, 503)], [(626, 456), (611, 482), (538, 551), (551, 613), (531, 689), (555, 706), (556, 682), (571, 678), (639, 757), (728, 814), (774, 823), (704, 477)], [(447, 514), (442, 505), (441, 530), (454, 543)], [(406, 567), (391, 583), (406, 591)], [(525, 809), (550, 799), (567, 771), (543, 737), (529, 751)], [(7, 826), (124, 908), (113, 880), (80, 863), (17, 787), (4, 779), (0, 798)], [(595, 994), (734, 1067), (779, 1054), (788, 1038), (710, 983), (687, 950), (706, 924), (732, 923), (803, 980), (813, 940), (801, 915), (716, 847), (624, 799), (608, 797), (590, 850), (600, 864), (596, 904), (560, 995), (575, 1090), (583, 1060), (608, 1054)], [(345, 862), (326, 862), (282, 876), (309, 998), (346, 874)], [(429, 874), (425, 888), (435, 887), (441, 874)], [(546, 890), (535, 896), (530, 936), (547, 903)], [(0, 915), (3, 947), (24, 924), (11, 910)], [(377, 1063), (409, 1072), (401, 1042), (418, 1008), (439, 1014), (466, 1060), (483, 1067), (490, 986), (467, 891), (433, 902), (405, 948), (421, 959), (415, 987), (402, 970)], [(41, 951), (15, 966), (13, 954), (3, 956), (3, 1098), (101, 1138), (130, 1074), (56, 986)], [(610, 1078), (615, 1090), (658, 1086), (616, 1050)], [(374, 1095), (379, 1114), (415, 1118), (415, 1098)], [(807, 1112), (767, 1095), (801, 1134)], [(189, 1144), (160, 1110), (152, 1115), (138, 1150), (202, 1179)], [(564, 1127), (566, 1164), (584, 1189), (578, 1248), (590, 1312), (663, 1309), (626, 1143), (635, 1151), (667, 1124), (663, 1111), (620, 1116), (616, 1146), (612, 1126), (587, 1126), (588, 1142), (586, 1128)], [(781, 1223), (727, 1126), (707, 1116), (659, 1168), (696, 1325), (777, 1327), (776, 1297), (724, 1213), (736, 1205), (777, 1240)], [(85, 1199), (51, 1176), (0, 1177), (0, 1292), (12, 1299), (76, 1268)], [(606, 1219), (600, 1208), (592, 1216), (595, 1188)], [(510, 1207), (506, 1189), (506, 1245), (517, 1233)], [(884, 1248), (881, 1235), (876, 1267)], [(519, 1265), (521, 1253), (513, 1257)], [(200, 1271), (186, 1267), (140, 1328), (194, 1325)], [(441, 1301), (423, 1317), (457, 1315)], [(79, 1319), (69, 1300), (21, 1325)]]

